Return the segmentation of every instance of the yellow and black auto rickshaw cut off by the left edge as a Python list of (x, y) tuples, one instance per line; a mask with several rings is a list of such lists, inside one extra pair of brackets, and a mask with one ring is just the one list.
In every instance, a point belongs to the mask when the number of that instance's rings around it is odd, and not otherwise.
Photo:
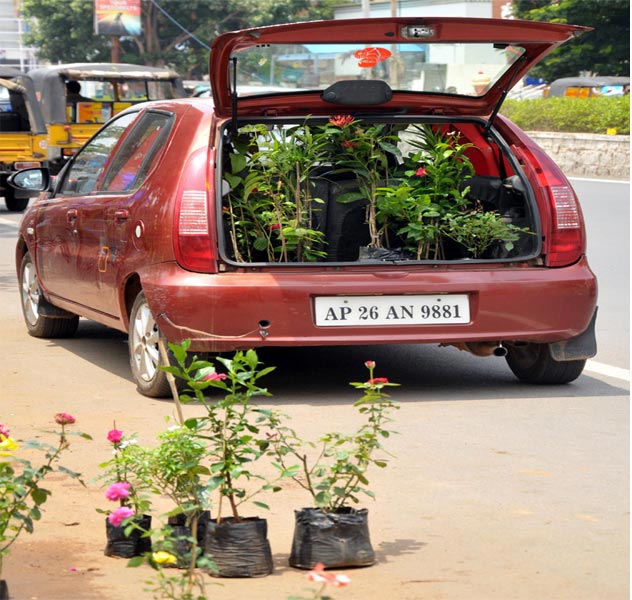
[(0, 66), (0, 196), (10, 211), (22, 211), (33, 193), (7, 184), (20, 169), (47, 166), (46, 124), (30, 77)]

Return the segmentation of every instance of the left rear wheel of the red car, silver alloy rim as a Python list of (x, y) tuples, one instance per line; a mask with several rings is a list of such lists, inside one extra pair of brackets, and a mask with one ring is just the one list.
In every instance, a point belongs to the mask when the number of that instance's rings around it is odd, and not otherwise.
[(158, 368), (165, 365), (158, 346), (161, 335), (145, 294), (140, 292), (129, 318), (129, 361), (138, 391), (150, 398), (172, 396), (167, 374)]

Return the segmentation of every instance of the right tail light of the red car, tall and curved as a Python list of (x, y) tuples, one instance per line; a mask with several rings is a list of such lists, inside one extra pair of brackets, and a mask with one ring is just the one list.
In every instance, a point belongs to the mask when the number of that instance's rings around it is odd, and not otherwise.
[(548, 223), (543, 219), (546, 265), (563, 267), (577, 262), (586, 251), (586, 233), (575, 191), (542, 149), (534, 145), (523, 148), (523, 151), (535, 170), (550, 208)]

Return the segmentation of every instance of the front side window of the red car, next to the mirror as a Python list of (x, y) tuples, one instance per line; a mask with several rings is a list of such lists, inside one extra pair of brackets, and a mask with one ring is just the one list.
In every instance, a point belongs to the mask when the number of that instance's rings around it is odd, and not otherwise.
[(112, 150), (137, 117), (136, 112), (124, 115), (106, 125), (87, 142), (65, 173), (58, 193), (64, 196), (85, 196), (92, 193)]

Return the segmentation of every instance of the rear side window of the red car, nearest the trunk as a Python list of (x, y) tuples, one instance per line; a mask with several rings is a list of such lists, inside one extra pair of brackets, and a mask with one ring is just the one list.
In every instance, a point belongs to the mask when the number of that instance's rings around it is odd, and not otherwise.
[(101, 192), (133, 192), (162, 154), (173, 115), (147, 111), (123, 140), (100, 186)]

